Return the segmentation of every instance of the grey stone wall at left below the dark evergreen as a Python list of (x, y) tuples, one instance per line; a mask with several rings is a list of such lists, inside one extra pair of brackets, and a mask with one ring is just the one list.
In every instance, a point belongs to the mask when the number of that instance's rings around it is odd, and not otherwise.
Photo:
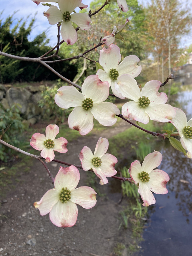
[(12, 87), (10, 84), (0, 84), (0, 104), (4, 110), (18, 103), (20, 115), (29, 123), (35, 123), (44, 115), (44, 109), (38, 106), (41, 93), (46, 88), (45, 85), (29, 85), (25, 88)]

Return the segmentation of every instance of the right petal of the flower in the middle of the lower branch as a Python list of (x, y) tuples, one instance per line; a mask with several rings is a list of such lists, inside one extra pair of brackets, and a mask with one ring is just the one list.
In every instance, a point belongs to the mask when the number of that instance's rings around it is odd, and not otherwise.
[(118, 162), (117, 158), (111, 154), (105, 154), (101, 157), (101, 172), (105, 174), (106, 177), (111, 177), (116, 175), (115, 164)]

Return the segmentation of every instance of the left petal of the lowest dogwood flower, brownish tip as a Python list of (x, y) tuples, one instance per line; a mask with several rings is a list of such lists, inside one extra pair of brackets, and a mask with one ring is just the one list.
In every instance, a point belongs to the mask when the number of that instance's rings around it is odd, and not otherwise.
[(53, 206), (59, 201), (59, 191), (55, 188), (48, 190), (39, 202), (35, 202), (35, 208), (38, 208), (42, 216), (49, 213)]

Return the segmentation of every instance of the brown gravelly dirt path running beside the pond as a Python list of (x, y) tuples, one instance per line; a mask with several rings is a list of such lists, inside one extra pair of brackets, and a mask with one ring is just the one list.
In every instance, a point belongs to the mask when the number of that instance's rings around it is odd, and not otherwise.
[[(105, 130), (101, 136), (109, 138), (127, 128), (127, 124), (117, 126), (115, 129)], [(68, 143), (68, 152), (57, 154), (56, 158), (80, 164), (78, 154), (81, 149), (86, 145), (94, 150), (98, 138), (96, 134), (82, 136)], [(97, 196), (97, 204), (92, 209), (78, 206), (76, 225), (62, 229), (52, 224), (49, 214), (40, 216), (33, 206), (34, 202), (39, 201), (52, 188), (52, 184), (42, 164), (35, 159), (30, 161), (30, 172), (20, 170), (19, 183), (1, 200), (0, 256), (106, 256), (115, 255), (113, 248), (117, 242), (126, 245), (130, 243), (131, 231), (122, 228), (118, 231), (121, 223), (119, 212), (126, 203), (117, 204), (121, 198), (120, 182), (109, 178), (109, 184), (97, 185), (96, 192), (104, 196)], [(60, 164), (52, 162), (48, 166), (55, 176)], [(90, 174), (80, 170), (81, 180), (78, 187), (86, 186), (85, 181), (90, 179)], [(99, 184), (99, 179), (97, 183)]]

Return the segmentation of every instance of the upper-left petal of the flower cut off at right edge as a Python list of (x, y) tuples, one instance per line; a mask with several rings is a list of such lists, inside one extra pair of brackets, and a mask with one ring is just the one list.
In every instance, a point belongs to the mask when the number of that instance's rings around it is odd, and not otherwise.
[(183, 128), (187, 126), (187, 117), (183, 110), (175, 108), (176, 116), (171, 120), (171, 123), (175, 126), (180, 136), (183, 134)]

